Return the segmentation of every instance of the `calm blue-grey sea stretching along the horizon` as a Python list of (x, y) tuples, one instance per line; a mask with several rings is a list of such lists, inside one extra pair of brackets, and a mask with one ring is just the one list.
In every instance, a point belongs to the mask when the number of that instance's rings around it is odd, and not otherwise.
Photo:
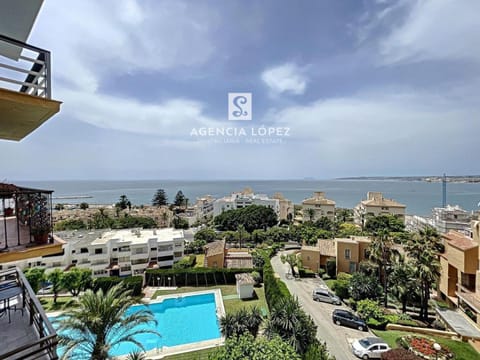
[[(89, 199), (55, 200), (56, 202), (113, 204), (120, 195), (128, 196), (133, 204), (150, 204), (155, 191), (165, 189), (170, 201), (178, 190), (182, 190), (190, 203), (196, 197), (210, 194), (216, 198), (242, 190), (249, 186), (257, 193), (273, 195), (281, 192), (298, 204), (310, 197), (313, 191), (325, 191), (338, 207), (354, 207), (366, 197), (367, 191), (381, 191), (407, 205), (407, 213), (426, 215), (442, 204), (442, 184), (421, 181), (377, 181), (377, 180), (137, 180), (137, 181), (17, 181), (18, 185), (54, 190), (54, 196), (87, 195)], [(447, 203), (460, 205), (466, 210), (477, 210), (480, 202), (480, 183), (447, 185)]]

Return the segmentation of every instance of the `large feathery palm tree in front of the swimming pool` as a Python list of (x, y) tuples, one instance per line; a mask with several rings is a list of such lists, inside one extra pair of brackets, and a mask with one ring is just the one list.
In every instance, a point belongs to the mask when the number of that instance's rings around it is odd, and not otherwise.
[(127, 310), (136, 303), (131, 292), (116, 285), (104, 293), (87, 290), (78, 299), (78, 307), (68, 310), (58, 320), (59, 344), (63, 347), (62, 359), (95, 360), (110, 358), (110, 351), (120, 343), (130, 342), (145, 351), (136, 335), (160, 334), (139, 325), (156, 324), (150, 310), (129, 313)]

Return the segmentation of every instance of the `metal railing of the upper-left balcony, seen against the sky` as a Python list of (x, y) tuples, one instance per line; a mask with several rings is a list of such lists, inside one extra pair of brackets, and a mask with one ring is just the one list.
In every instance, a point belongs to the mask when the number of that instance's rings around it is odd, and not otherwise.
[(16, 60), (0, 56), (0, 87), (51, 99), (50, 51), (1, 34), (0, 44), (19, 50)]

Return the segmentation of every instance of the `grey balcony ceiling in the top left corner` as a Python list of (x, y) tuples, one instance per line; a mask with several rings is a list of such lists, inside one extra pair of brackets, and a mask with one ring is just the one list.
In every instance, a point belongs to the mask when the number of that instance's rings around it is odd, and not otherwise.
[[(1, 0), (0, 34), (27, 42), (43, 0)], [(18, 60), (22, 49), (0, 44), (0, 55)]]

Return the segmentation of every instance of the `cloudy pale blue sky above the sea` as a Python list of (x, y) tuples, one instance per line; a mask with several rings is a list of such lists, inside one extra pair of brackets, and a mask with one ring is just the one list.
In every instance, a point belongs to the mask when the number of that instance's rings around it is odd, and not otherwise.
[[(478, 174), (479, 13), (478, 0), (45, 1), (28, 42), (52, 52), (63, 104), (0, 141), (2, 177)], [(229, 120), (228, 93), (252, 95), (252, 120)]]

